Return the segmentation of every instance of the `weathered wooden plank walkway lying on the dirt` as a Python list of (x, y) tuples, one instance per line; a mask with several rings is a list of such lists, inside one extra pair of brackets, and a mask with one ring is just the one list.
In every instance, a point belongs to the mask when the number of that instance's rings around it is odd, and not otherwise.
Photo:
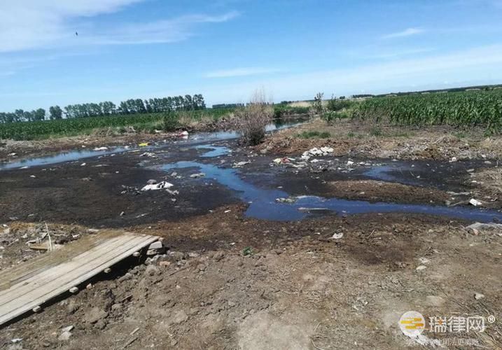
[(131, 232), (99, 232), (0, 271), (0, 325), (67, 292), (157, 240), (155, 236)]

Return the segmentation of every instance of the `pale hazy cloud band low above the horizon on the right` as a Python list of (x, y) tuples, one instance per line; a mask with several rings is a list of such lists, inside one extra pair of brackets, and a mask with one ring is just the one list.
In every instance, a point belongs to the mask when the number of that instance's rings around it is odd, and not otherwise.
[[(241, 83), (198, 86), (208, 103), (247, 101), (256, 87), (263, 86), (277, 101), (311, 98), (316, 92), (352, 94), (412, 90), (414, 87), (493, 83), (502, 79), (502, 45), (491, 45), (443, 55), (399, 59), (393, 62), (352, 66), (347, 69), (290, 74), (280, 78), (253, 78)], [(459, 78), (461, 77), (461, 82)], [(188, 89), (190, 90), (190, 89)]]

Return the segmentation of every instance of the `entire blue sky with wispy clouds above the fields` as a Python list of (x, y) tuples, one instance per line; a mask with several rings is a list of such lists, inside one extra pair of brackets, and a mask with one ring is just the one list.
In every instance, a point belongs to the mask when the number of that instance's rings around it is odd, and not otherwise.
[(502, 83), (501, 38), (502, 0), (4, 0), (0, 110)]

